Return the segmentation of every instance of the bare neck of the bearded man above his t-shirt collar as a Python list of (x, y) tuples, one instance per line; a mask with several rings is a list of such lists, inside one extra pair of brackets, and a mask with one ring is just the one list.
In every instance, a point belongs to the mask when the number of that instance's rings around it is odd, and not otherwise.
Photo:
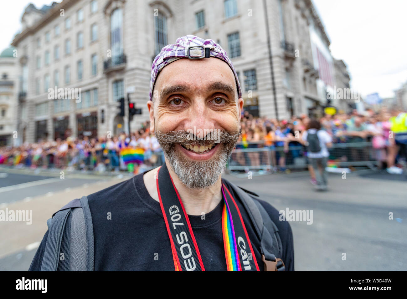
[[(173, 179), (173, 183), (175, 188), (177, 188), (179, 197), (181, 197), (182, 203), (184, 205), (186, 214), (188, 215), (202, 215), (202, 213), (209, 213), (211, 212), (219, 202), (222, 200), (222, 179), (219, 176), (219, 179), (216, 183), (212, 186), (209, 186), (205, 189), (191, 189), (186, 187), (178, 176), (173, 172), (170, 165), (166, 164), (168, 168), (168, 172)], [(156, 172), (158, 168), (153, 169), (147, 172), (144, 177), (144, 184), (149, 192), (150, 196), (155, 199), (156, 201), (160, 201), (158, 199), (158, 192), (157, 192), (157, 184), (155, 182)]]

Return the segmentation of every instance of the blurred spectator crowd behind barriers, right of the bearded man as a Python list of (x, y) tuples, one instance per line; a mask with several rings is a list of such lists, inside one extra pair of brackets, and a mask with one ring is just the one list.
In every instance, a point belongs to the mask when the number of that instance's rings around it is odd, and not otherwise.
[[(396, 144), (393, 133), (398, 132), (392, 132), (392, 126), (398, 122), (398, 118), (406, 122), (403, 109), (383, 107), (376, 112), (371, 109), (363, 112), (354, 109), (352, 113), (326, 114), (317, 120), (320, 129), (328, 133), (333, 144), (372, 142), (369, 147), (373, 151), (352, 148), (351, 145), (349, 148), (337, 147), (335, 153), (330, 154), (334, 155), (331, 158), (354, 162), (374, 159), (379, 162), (380, 168), (386, 168), (392, 174), (400, 174), (403, 170), (398, 167), (398, 158), (406, 155), (406, 146)], [(311, 118), (305, 114), (278, 121), (266, 117), (254, 118), (246, 111), (241, 122), (241, 143), (238, 148), (269, 147), (272, 149), (271, 159), (275, 170), (284, 171), (288, 164), (293, 165), (297, 160), (306, 158), (306, 140), (303, 136), (310, 129), (310, 123)], [(407, 123), (403, 125), (406, 127)], [(256, 151), (234, 155), (234, 160), (242, 166), (262, 165), (267, 158)]]

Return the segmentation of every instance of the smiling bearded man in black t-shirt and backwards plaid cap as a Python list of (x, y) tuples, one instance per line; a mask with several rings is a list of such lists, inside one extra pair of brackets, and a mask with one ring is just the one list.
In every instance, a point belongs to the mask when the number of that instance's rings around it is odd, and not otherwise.
[[(221, 177), (239, 138), (243, 108), (239, 79), (221, 46), (187, 35), (162, 48), (153, 61), (147, 106), (165, 162), (87, 196), (92, 269), (293, 271), (289, 223), (279, 221), (269, 203)], [(278, 229), (279, 240), (271, 238), (280, 241), (280, 251), (271, 255), (271, 269), (249, 201), (265, 213), (270, 235)], [(31, 270), (43, 268), (47, 234)]]

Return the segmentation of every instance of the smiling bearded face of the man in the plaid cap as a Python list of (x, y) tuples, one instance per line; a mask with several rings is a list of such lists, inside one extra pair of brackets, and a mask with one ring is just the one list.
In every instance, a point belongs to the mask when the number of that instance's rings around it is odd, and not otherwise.
[[(162, 69), (153, 95), (151, 131), (174, 172), (190, 188), (215, 183), (236, 145), (243, 107), (228, 64), (214, 57), (178, 59)], [(220, 132), (220, 143), (215, 134), (191, 140), (187, 132), (200, 130)]]

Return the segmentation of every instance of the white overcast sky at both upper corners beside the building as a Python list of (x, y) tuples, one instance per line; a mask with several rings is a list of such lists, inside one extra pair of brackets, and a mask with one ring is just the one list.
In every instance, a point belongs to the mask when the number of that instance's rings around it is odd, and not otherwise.
[[(31, 0), (37, 8), (52, 2)], [(56, 1), (60, 2), (60, 1)], [(407, 81), (406, 0), (313, 0), (330, 38), (333, 57), (348, 65), (351, 87), (363, 96), (394, 96)], [(9, 0), (0, 10), (0, 50), (21, 28), (29, 1)]]

